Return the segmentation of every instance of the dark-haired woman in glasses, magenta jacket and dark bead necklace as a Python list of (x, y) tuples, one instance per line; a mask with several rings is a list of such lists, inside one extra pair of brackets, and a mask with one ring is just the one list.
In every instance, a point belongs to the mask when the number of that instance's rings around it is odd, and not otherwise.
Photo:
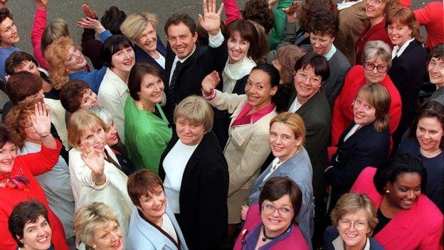
[(260, 192), (259, 204), (248, 209), (233, 249), (308, 250), (297, 227), (301, 203), (302, 192), (289, 177), (268, 179)]

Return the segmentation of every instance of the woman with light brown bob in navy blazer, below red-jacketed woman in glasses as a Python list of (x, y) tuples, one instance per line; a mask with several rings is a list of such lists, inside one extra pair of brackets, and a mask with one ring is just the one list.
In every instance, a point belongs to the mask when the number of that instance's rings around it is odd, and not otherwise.
[(377, 83), (359, 89), (353, 103), (354, 123), (345, 130), (325, 170), (327, 184), (332, 187), (331, 205), (349, 192), (361, 170), (367, 166), (379, 167), (388, 157), (390, 95)]

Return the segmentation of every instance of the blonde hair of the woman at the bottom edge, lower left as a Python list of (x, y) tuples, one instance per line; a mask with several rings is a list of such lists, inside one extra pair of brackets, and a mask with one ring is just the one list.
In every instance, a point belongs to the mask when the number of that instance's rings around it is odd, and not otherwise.
[(90, 244), (94, 236), (94, 229), (105, 227), (112, 221), (120, 226), (117, 215), (106, 204), (102, 202), (85, 204), (74, 214), (75, 236), (86, 245), (86, 249), (93, 250)]

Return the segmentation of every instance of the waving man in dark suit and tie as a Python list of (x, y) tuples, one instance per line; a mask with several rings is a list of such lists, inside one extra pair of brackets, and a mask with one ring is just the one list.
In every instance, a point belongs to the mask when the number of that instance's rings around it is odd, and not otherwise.
[(164, 84), (165, 114), (172, 122), (176, 104), (189, 95), (201, 95), (201, 81), (211, 71), (223, 70), (228, 49), (221, 33), (221, 6), (216, 12), (216, 0), (209, 0), (199, 15), (199, 24), (208, 31), (209, 46), (197, 41), (196, 23), (187, 14), (173, 14), (165, 24), (168, 46)]

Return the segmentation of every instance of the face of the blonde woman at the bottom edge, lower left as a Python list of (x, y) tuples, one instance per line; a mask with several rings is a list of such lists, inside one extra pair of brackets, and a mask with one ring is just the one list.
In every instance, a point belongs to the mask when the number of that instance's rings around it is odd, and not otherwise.
[(90, 246), (95, 246), (95, 250), (123, 250), (122, 231), (115, 221), (110, 221), (93, 231), (93, 239)]

